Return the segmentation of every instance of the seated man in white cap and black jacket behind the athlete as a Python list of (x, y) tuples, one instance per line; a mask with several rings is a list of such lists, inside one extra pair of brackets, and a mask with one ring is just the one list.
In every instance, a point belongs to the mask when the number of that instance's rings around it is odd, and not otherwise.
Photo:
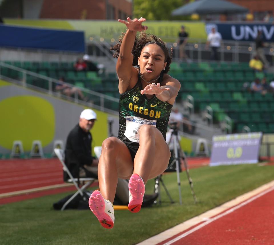
[[(96, 113), (91, 109), (85, 109), (80, 114), (79, 123), (68, 134), (65, 164), (73, 177), (98, 178), (99, 160), (91, 155), (92, 135), (90, 133), (96, 120)], [(67, 178), (68, 176), (64, 175), (64, 180)], [(118, 179), (116, 198), (120, 204), (128, 203), (128, 182), (124, 179)]]

